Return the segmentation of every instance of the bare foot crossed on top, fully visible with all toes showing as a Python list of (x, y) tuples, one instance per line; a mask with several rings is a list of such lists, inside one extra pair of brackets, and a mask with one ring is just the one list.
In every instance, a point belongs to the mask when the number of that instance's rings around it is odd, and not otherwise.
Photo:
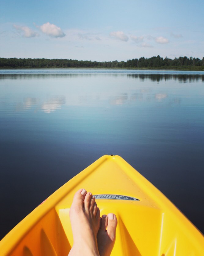
[(85, 189), (74, 195), (69, 211), (74, 244), (69, 256), (99, 256), (97, 233), (100, 226), (100, 211), (95, 198)]

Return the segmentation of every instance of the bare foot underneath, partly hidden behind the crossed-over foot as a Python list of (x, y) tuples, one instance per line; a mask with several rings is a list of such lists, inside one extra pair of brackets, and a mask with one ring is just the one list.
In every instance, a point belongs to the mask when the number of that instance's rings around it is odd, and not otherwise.
[[(97, 234), (100, 256), (110, 256), (116, 239), (117, 218), (113, 213), (102, 215)], [(107, 229), (106, 229), (107, 228)]]

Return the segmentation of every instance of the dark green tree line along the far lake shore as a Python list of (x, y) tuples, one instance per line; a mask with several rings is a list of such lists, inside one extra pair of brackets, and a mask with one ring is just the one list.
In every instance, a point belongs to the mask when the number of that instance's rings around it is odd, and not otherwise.
[(174, 59), (156, 57), (132, 59), (127, 61), (78, 61), (71, 59), (31, 59), (0, 58), (0, 69), (39, 69), (39, 68), (124, 68), (124, 69), (176, 69), (204, 70), (204, 57), (178, 57)]

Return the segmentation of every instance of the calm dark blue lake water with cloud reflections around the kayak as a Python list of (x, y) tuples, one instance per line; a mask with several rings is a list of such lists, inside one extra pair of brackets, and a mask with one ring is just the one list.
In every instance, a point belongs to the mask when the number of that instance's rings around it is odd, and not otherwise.
[(105, 154), (204, 233), (204, 72), (0, 70), (0, 238)]

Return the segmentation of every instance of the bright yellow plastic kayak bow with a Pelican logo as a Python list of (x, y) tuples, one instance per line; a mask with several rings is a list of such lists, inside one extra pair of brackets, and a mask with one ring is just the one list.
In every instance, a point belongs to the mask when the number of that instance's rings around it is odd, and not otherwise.
[(67, 256), (73, 245), (69, 209), (80, 188), (101, 215), (115, 213), (111, 255), (204, 255), (197, 228), (120, 156), (102, 156), (55, 191), (0, 241), (1, 256)]

